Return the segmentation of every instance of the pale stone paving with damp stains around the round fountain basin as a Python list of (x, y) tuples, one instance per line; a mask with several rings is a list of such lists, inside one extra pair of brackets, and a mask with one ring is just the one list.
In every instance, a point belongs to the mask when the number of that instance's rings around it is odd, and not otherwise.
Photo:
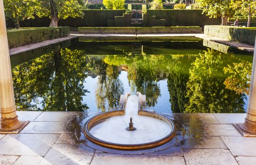
[(20, 120), (30, 123), (19, 134), (0, 134), (0, 164), (255, 165), (256, 138), (243, 137), (233, 126), (245, 115), (174, 114), (177, 127), (185, 127), (178, 145), (157, 151), (119, 151), (89, 144), (82, 137), (78, 130), (88, 118), (86, 113), (18, 112)]

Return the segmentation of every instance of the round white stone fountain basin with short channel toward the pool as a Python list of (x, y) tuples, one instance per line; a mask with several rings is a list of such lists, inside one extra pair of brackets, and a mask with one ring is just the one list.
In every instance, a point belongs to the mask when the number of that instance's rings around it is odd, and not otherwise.
[[(124, 110), (101, 113), (88, 120), (85, 135), (92, 142), (115, 149), (143, 149), (159, 146), (175, 135), (175, 125), (168, 116), (139, 110), (137, 95), (128, 97)], [(130, 113), (136, 131), (127, 131)]]

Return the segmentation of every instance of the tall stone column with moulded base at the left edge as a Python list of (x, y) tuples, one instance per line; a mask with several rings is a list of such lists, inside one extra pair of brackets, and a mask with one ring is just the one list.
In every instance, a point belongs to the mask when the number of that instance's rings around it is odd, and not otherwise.
[(0, 133), (18, 133), (28, 123), (19, 121), (16, 114), (3, 0), (0, 0), (0, 114)]

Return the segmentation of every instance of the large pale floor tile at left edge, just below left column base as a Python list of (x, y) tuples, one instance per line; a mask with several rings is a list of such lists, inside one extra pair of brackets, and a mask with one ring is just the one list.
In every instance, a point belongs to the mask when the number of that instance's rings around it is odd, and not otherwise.
[(0, 155), (44, 156), (60, 134), (8, 134), (0, 140)]

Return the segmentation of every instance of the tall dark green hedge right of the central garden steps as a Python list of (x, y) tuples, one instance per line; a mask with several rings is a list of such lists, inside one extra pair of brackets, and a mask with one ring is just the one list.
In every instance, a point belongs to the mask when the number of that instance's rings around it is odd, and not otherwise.
[(220, 25), (221, 18), (209, 18), (203, 15), (201, 9), (165, 9), (165, 10), (147, 10), (150, 16), (156, 16), (156, 19), (165, 19), (166, 26), (201, 26)]

